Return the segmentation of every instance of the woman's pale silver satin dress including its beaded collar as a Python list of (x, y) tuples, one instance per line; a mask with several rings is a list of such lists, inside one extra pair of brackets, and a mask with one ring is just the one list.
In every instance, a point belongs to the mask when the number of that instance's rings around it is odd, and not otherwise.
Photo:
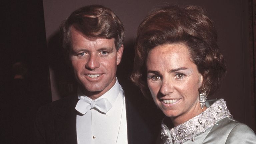
[(162, 123), (161, 144), (256, 144), (253, 130), (232, 118), (223, 99), (208, 100), (206, 107), (172, 129)]

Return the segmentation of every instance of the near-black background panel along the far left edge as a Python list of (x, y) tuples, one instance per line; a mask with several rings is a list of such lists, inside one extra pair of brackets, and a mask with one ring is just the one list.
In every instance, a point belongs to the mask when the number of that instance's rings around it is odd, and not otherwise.
[[(0, 1), (0, 143), (33, 143), (33, 118), (51, 101), (43, 2)], [(23, 62), (25, 80), (14, 81), (12, 65)]]

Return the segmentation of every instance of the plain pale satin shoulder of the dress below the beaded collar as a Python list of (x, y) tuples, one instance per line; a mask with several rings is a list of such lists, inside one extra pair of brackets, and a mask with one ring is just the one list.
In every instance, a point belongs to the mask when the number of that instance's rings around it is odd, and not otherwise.
[(183, 144), (256, 144), (256, 135), (247, 125), (226, 117), (196, 136), (194, 142)]

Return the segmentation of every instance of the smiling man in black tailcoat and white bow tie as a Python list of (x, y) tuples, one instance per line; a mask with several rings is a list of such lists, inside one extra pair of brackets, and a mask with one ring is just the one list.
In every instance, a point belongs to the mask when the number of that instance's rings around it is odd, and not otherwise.
[(124, 50), (119, 18), (104, 6), (85, 6), (62, 23), (61, 35), (78, 90), (39, 109), (38, 143), (154, 143), (155, 136), (116, 78)]

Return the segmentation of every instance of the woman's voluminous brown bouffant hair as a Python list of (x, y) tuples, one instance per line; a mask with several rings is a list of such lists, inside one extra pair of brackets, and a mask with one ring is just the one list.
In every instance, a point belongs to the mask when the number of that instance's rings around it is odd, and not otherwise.
[(188, 47), (191, 60), (204, 78), (199, 92), (205, 88), (208, 95), (213, 94), (225, 77), (226, 65), (217, 44), (215, 26), (199, 6), (168, 6), (153, 11), (143, 20), (137, 31), (132, 81), (149, 98), (145, 64), (148, 52), (159, 45), (176, 43)]

